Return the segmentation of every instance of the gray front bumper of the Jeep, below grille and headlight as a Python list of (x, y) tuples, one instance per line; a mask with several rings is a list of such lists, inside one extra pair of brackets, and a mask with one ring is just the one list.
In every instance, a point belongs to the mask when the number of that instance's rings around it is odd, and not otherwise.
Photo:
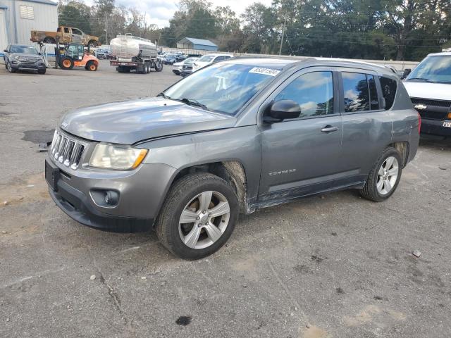
[[(46, 161), (58, 168), (56, 189), (49, 186), (56, 205), (84, 225), (114, 232), (150, 230), (175, 173), (164, 164), (143, 164), (136, 170), (115, 172), (71, 170), (54, 163), (48, 155)], [(99, 203), (98, 192), (106, 191), (118, 193), (116, 205)]]

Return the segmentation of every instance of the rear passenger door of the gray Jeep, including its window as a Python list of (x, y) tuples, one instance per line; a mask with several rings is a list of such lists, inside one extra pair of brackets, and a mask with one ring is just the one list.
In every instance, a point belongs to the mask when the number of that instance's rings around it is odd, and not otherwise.
[(342, 151), (335, 187), (366, 180), (392, 139), (392, 117), (383, 108), (378, 75), (371, 70), (339, 68)]

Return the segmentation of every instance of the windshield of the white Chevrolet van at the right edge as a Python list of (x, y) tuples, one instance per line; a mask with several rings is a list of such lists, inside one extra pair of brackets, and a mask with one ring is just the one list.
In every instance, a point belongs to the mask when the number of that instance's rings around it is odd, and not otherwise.
[(412, 70), (409, 80), (451, 84), (451, 55), (428, 56)]

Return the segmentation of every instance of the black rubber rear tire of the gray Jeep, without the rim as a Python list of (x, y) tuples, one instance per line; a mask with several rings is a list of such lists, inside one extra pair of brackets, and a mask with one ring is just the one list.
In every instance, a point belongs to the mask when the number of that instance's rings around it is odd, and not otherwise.
[[(387, 194), (380, 194), (376, 187), (376, 184), (378, 182), (378, 171), (385, 162), (385, 160), (390, 156), (395, 157), (398, 163), (397, 179), (395, 184), (393, 184), (393, 187), (390, 190), (390, 192), (388, 192)], [(374, 167), (371, 169), (371, 172), (368, 175), (368, 179), (366, 180), (363, 189), (360, 189), (360, 194), (362, 195), (362, 197), (364, 197), (365, 199), (369, 199), (370, 201), (381, 202), (385, 201), (385, 199), (388, 199), (390, 196), (392, 196), (397, 188), (397, 185), (400, 183), (401, 180), (402, 164), (403, 163), (399, 151), (397, 151), (395, 148), (391, 146), (384, 149), (381, 156), (379, 156), (378, 160), (376, 161)]]

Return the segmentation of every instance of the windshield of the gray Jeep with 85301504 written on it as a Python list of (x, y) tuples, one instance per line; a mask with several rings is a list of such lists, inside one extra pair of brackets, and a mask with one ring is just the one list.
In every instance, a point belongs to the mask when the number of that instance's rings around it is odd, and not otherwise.
[(190, 100), (209, 111), (235, 115), (279, 72), (254, 65), (214, 63), (180, 80), (163, 94), (168, 99)]

